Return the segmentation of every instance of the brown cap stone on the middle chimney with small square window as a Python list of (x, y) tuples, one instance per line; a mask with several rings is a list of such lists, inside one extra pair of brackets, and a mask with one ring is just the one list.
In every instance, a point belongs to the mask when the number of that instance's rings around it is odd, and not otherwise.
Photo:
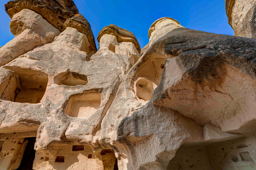
[(134, 43), (136, 49), (140, 53), (140, 44), (137, 41), (134, 34), (130, 31), (117, 27), (116, 25), (110, 24), (109, 26), (104, 27), (98, 34), (98, 42), (104, 34), (110, 34), (116, 36), (118, 42), (132, 42)]

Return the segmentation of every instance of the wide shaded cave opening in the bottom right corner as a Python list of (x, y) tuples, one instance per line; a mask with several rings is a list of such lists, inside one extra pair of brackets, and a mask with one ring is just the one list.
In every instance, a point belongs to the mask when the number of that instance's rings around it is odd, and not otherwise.
[(198, 145), (183, 144), (169, 162), (167, 170), (254, 170), (254, 160), (253, 144), (243, 138)]

